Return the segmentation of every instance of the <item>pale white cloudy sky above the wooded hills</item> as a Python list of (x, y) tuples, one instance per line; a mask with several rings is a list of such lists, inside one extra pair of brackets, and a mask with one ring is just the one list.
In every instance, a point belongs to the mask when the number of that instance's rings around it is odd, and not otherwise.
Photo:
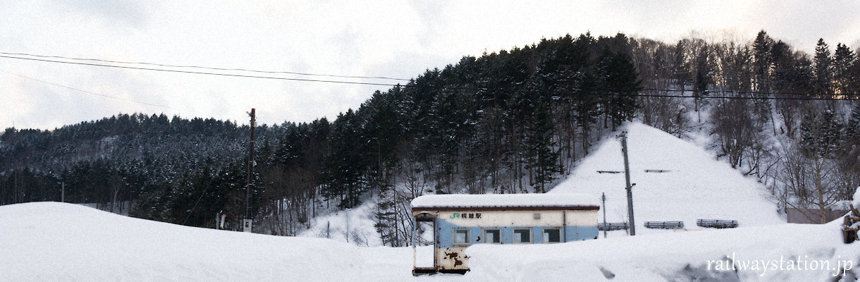
[[(819, 38), (857, 48), (858, 10), (857, 1), (794, 0), (2, 1), (0, 52), (411, 78), (464, 55), (587, 31), (746, 41), (765, 29), (806, 51)], [(385, 89), (0, 58), (0, 128), (52, 129), (116, 113), (247, 123), (251, 107), (267, 124), (332, 119)]]

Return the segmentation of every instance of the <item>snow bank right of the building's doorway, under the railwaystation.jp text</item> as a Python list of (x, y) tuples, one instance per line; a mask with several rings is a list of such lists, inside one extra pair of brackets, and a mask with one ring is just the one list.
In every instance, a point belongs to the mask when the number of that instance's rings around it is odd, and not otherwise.
[(466, 252), (472, 269), (466, 276), (476, 280), (830, 281), (860, 273), (860, 243), (842, 244), (836, 222), (554, 245), (479, 244)]

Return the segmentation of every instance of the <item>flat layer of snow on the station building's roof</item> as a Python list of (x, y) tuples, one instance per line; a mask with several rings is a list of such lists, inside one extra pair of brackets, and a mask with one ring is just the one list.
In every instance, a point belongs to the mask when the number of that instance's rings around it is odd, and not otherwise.
[(444, 194), (412, 200), (412, 208), (597, 208), (599, 196), (577, 193)]

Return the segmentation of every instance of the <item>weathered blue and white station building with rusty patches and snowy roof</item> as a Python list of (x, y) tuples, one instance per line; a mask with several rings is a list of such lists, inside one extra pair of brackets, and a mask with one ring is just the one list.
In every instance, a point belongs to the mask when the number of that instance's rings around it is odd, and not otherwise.
[[(593, 198), (593, 199), (591, 199)], [(413, 273), (465, 273), (473, 244), (549, 244), (596, 239), (598, 197), (577, 194), (445, 194), (412, 200), (413, 246), (433, 223), (433, 267)]]

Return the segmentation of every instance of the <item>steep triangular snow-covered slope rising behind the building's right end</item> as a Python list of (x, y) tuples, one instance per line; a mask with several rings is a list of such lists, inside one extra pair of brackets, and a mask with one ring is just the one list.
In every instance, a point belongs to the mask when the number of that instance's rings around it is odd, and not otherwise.
[[(684, 221), (689, 229), (697, 228), (697, 219), (737, 220), (740, 226), (785, 222), (759, 182), (695, 144), (641, 123), (626, 124), (622, 130), (628, 132), (630, 181), (636, 183), (637, 234), (657, 232), (645, 229), (646, 221)], [(603, 142), (550, 193), (587, 193), (594, 199), (606, 193), (606, 221), (625, 222), (624, 173), (612, 171), (624, 171), (618, 140)]]

